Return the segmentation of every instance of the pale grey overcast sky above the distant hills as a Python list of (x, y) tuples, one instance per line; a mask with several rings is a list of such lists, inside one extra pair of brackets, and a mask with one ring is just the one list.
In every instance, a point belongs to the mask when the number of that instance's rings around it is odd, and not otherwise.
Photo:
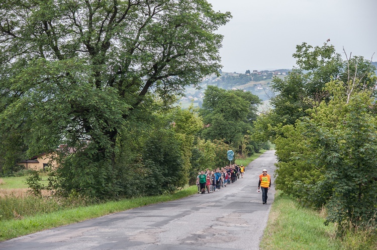
[(221, 27), (224, 72), (292, 69), (296, 45), (377, 61), (377, 0), (208, 0), (233, 19)]

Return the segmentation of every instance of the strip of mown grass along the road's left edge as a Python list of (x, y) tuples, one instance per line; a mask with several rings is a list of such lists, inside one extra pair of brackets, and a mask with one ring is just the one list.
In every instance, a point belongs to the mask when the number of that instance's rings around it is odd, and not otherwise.
[(140, 197), (111, 201), (103, 204), (60, 210), (47, 214), (25, 216), (23, 219), (0, 220), (0, 241), (41, 231), (44, 229), (67, 225), (106, 214), (124, 211), (144, 205), (180, 199), (197, 193), (197, 186), (190, 186), (174, 194), (152, 197)]

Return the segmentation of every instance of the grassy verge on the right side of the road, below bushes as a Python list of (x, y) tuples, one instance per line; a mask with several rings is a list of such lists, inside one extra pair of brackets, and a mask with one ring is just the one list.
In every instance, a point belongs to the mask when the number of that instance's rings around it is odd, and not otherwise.
[[(324, 225), (325, 211), (302, 207), (294, 198), (277, 191), (260, 249), (377, 249), (372, 230), (345, 230), (336, 237), (336, 225)], [(349, 229), (349, 228), (348, 228)]]

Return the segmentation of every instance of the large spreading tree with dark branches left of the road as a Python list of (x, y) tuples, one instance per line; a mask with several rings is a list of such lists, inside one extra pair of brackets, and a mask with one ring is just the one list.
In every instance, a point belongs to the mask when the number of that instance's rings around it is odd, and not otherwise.
[(76, 164), (107, 176), (119, 131), (149, 93), (169, 100), (218, 73), (215, 31), (230, 18), (205, 0), (2, 1), (5, 166), (16, 161), (9, 153), (31, 157), (64, 142), (85, 159)]

